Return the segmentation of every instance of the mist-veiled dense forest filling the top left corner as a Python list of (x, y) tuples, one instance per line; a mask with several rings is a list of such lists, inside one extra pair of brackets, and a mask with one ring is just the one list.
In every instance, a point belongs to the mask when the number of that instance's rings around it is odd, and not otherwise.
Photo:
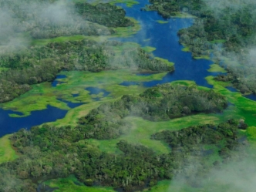
[[(17, 41), (25, 34), (34, 39), (70, 35), (110, 35), (109, 27), (134, 25), (125, 18), (123, 8), (108, 3), (64, 4), (58, 1), (1, 0), (0, 11), (5, 21), (0, 29), (0, 45)], [(6, 22), (8, 21), (8, 22)], [(98, 25), (99, 24), (99, 25)]]

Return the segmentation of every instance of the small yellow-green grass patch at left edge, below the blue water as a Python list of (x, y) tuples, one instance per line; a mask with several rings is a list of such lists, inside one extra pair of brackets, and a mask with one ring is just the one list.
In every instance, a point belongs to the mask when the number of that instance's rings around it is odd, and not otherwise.
[(10, 135), (5, 135), (0, 138), (0, 163), (15, 160), (18, 157), (12, 148), (9, 137)]

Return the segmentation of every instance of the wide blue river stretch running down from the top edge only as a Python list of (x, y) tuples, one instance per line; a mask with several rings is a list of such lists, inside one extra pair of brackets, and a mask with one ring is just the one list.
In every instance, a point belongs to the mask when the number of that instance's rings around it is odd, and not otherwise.
[[(175, 71), (168, 73), (161, 80), (153, 80), (143, 83), (143, 86), (150, 87), (157, 84), (169, 83), (174, 80), (193, 80), (200, 86), (212, 88), (204, 79), (206, 76), (216, 76), (218, 72), (207, 72), (213, 63), (207, 59), (193, 59), (190, 52), (181, 51), (184, 48), (179, 44), (177, 32), (180, 29), (188, 28), (193, 24), (193, 19), (168, 19), (168, 23), (160, 24), (157, 20), (163, 18), (157, 12), (140, 11), (147, 1), (140, 1), (139, 5), (127, 8), (124, 4), (117, 4), (126, 10), (127, 16), (132, 16), (140, 21), (142, 29), (136, 35), (126, 39), (116, 39), (122, 42), (137, 42), (142, 46), (153, 46), (157, 48), (153, 51), (154, 56), (168, 59), (175, 63)], [(150, 41), (145, 41), (150, 39)], [(211, 55), (213, 57), (213, 55)], [(134, 83), (121, 83), (123, 86), (134, 85)]]

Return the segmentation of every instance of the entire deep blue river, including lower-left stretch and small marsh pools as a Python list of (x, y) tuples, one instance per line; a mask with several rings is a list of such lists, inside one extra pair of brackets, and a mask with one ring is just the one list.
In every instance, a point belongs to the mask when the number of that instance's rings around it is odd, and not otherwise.
[[(174, 62), (175, 71), (167, 73), (167, 75), (164, 76), (161, 80), (153, 80), (140, 84), (146, 87), (150, 87), (161, 83), (169, 83), (174, 80), (193, 80), (200, 86), (207, 86), (211, 88), (212, 86), (209, 85), (204, 78), (206, 76), (217, 75), (217, 72), (207, 72), (207, 69), (210, 69), (210, 65), (213, 62), (207, 59), (193, 59), (190, 52), (183, 52), (181, 50), (183, 45), (180, 45), (178, 42), (179, 37), (177, 36), (177, 32), (180, 29), (184, 29), (193, 25), (193, 19), (168, 19), (168, 23), (160, 24), (157, 22), (157, 20), (164, 21), (164, 19), (158, 15), (157, 12), (140, 11), (140, 8), (143, 8), (146, 4), (148, 4), (146, 0), (140, 1), (140, 4), (133, 5), (132, 8), (128, 8), (124, 4), (117, 4), (126, 10), (127, 16), (133, 17), (140, 22), (141, 30), (132, 37), (120, 38), (116, 40), (122, 42), (137, 42), (142, 46), (155, 47), (156, 50), (153, 51), (153, 55), (163, 59), (168, 59), (170, 62)], [(57, 76), (56, 80), (52, 83), (52, 86), (57, 86), (59, 79), (62, 78), (66, 78), (66, 76)], [(123, 86), (137, 84), (139, 83), (121, 83)], [(107, 96), (109, 94), (103, 89), (97, 89), (95, 87), (90, 87), (87, 90), (89, 90), (90, 94), (98, 94), (101, 92), (103, 93), (103, 96)], [(234, 89), (232, 90), (234, 91)], [(74, 94), (73, 96), (78, 96), (78, 94)], [(255, 96), (248, 96), (248, 99), (256, 98)], [(83, 104), (70, 102), (66, 103), (71, 108)], [(66, 116), (67, 112), (67, 110), (58, 109), (53, 106), (47, 106), (47, 109), (33, 111), (30, 116), (13, 118), (8, 114), (15, 113), (22, 115), (22, 113), (0, 109), (0, 136), (8, 133), (14, 133), (21, 128), (30, 129), (32, 126), (62, 119), (64, 116)]]

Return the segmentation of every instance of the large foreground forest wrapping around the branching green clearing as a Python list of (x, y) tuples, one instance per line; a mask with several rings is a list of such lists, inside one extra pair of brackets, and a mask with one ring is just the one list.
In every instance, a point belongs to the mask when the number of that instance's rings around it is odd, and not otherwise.
[[(176, 98), (184, 99), (178, 101)], [(169, 99), (174, 99), (170, 102), (170, 109), (158, 110)], [(8, 191), (35, 191), (37, 180), (67, 177), (69, 174), (74, 174), (88, 186), (101, 184), (133, 191), (153, 186), (157, 180), (171, 179), (175, 173), (185, 171), (182, 167), (188, 155), (200, 155), (203, 159), (216, 155), (199, 147), (204, 144), (217, 146), (217, 154), (226, 159), (231, 150), (239, 148), (237, 130), (246, 129), (243, 122), (228, 120), (219, 125), (190, 126), (153, 134), (153, 140), (170, 144), (172, 150), (166, 154), (157, 154), (143, 145), (127, 143), (126, 140), (120, 140), (116, 145), (122, 153), (106, 153), (86, 141), (89, 137), (116, 138), (116, 134), (109, 134), (113, 130), (110, 128), (118, 130), (120, 125), (116, 125), (125, 116), (151, 116), (153, 120), (167, 120), (180, 116), (180, 113), (188, 115), (189, 110), (217, 112), (226, 105), (223, 96), (213, 91), (166, 84), (147, 89), (137, 97), (123, 96), (114, 103), (102, 104), (79, 120), (79, 126), (74, 128), (43, 125), (31, 130), (19, 130), (12, 135), (12, 143), (21, 156), (0, 165), (0, 191), (6, 191), (7, 187)], [(179, 109), (184, 111), (178, 112)], [(109, 121), (106, 122), (106, 118)], [(82, 125), (85, 120), (86, 125)], [(126, 124), (128, 129), (129, 126)], [(116, 133), (116, 130), (113, 132)], [(198, 173), (207, 172), (209, 167), (215, 165), (217, 162), (211, 165), (204, 163), (204, 169), (198, 170)]]

